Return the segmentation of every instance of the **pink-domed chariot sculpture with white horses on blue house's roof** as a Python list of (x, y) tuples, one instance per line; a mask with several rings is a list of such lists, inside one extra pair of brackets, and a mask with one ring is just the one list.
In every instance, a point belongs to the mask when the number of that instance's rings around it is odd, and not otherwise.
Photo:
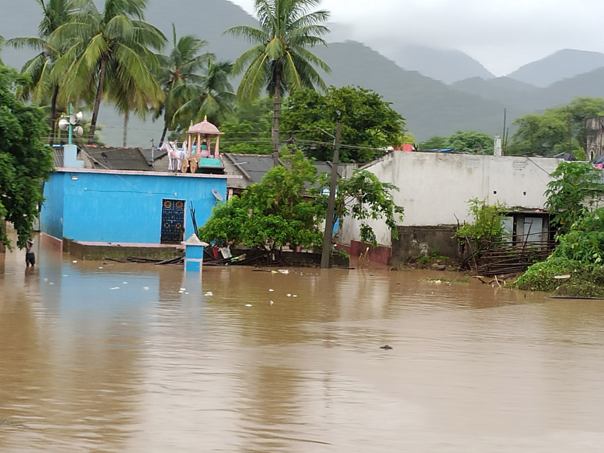
[[(182, 143), (182, 150), (176, 142), (164, 141), (160, 150), (168, 153), (168, 171), (182, 173), (213, 173), (223, 170), (220, 157), (220, 132), (214, 124), (204, 117), (201, 123), (189, 127), (188, 139)], [(214, 144), (212, 143), (214, 142)], [(175, 167), (176, 164), (176, 167)]]

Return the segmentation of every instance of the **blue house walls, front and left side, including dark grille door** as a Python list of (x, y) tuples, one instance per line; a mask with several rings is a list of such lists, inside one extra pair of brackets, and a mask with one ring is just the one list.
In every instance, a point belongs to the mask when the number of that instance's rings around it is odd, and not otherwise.
[(178, 244), (194, 234), (191, 205), (204, 225), (226, 199), (226, 178), (61, 167), (44, 185), (40, 228), (77, 242)]

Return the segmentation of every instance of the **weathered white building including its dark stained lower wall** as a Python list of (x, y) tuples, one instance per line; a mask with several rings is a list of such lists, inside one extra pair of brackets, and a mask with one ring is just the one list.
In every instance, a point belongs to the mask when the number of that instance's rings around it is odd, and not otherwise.
[[(379, 248), (371, 249), (374, 262), (397, 264), (419, 254), (438, 251), (454, 255), (451, 236), (459, 223), (471, 220), (467, 201), (486, 199), (516, 208), (515, 234), (547, 230), (544, 212), (547, 183), (561, 159), (524, 156), (467, 155), (442, 152), (392, 152), (364, 168), (382, 182), (399, 187), (394, 202), (405, 208), (399, 240), (393, 243), (384, 222), (370, 220)], [(351, 255), (365, 252), (360, 222), (344, 219), (339, 243)], [(510, 224), (510, 230), (512, 225)], [(527, 227), (528, 228), (528, 227)], [(437, 250), (438, 249), (438, 250)]]

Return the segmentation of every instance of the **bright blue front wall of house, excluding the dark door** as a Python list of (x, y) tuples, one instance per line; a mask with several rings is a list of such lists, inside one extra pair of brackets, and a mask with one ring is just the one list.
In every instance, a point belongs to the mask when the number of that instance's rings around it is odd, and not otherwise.
[(62, 181), (62, 236), (80, 241), (159, 243), (163, 199), (186, 201), (187, 239), (194, 233), (190, 202), (201, 226), (216, 204), (212, 189), (226, 199), (226, 178), (66, 172)]

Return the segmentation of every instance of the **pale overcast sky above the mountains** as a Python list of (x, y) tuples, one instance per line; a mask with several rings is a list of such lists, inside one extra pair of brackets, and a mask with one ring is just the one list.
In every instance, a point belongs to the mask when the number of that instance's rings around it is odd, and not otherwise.
[[(231, 0), (253, 13), (254, 0)], [(602, 0), (323, 0), (352, 39), (461, 50), (495, 76), (557, 50), (604, 51)]]

